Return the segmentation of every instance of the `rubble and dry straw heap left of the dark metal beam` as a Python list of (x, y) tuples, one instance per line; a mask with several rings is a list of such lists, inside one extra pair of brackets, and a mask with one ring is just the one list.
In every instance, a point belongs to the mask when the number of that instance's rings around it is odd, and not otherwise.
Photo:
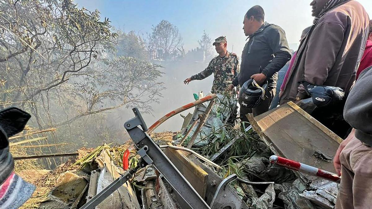
[[(161, 132), (154, 133), (151, 136), (157, 139), (159, 144), (166, 144), (176, 134), (174, 132)], [(59, 165), (54, 170), (29, 169), (19, 171), (17, 174), (36, 186), (32, 197), (21, 208), (80, 208), (87, 199), (89, 200), (95, 193), (124, 173), (121, 168), (122, 154), (131, 145), (132, 142), (128, 141), (124, 145), (115, 147), (102, 145), (95, 149), (81, 148), (77, 151), (77, 157), (69, 158), (67, 162)], [(132, 159), (138, 158), (135, 154), (131, 154), (131, 157)], [(93, 184), (90, 184), (92, 180), (96, 181), (94, 188)], [(125, 204), (128, 208), (139, 209), (140, 205), (132, 186), (129, 183), (125, 184), (120, 189), (125, 191), (114, 193), (109, 200), (102, 203), (102, 208), (122, 208), (119, 205), (112, 205), (115, 203), (112, 200), (113, 198), (121, 199), (124, 202), (128, 200), (128, 203), (120, 204)], [(119, 196), (118, 193), (124, 196)], [(134, 207), (131, 205), (134, 205)]]

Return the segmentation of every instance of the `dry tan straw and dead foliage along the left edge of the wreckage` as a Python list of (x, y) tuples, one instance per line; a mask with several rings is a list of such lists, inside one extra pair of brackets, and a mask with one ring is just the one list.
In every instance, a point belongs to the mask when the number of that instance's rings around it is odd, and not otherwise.
[[(166, 131), (152, 133), (151, 137), (155, 141), (160, 141), (161, 144), (166, 144), (168, 142), (171, 142), (176, 134), (177, 132)], [(22, 135), (22, 137), (24, 136)], [(90, 172), (90, 170), (97, 168), (97, 164), (94, 162), (94, 160), (100, 155), (102, 151), (108, 153), (108, 155), (110, 156), (111, 160), (113, 160), (115, 165), (122, 167), (123, 153), (131, 145), (132, 141), (128, 140), (126, 143), (122, 145), (103, 144), (96, 148), (80, 148), (77, 151), (79, 153), (78, 157), (68, 158), (68, 160), (65, 163), (59, 165), (54, 170), (44, 170), (42, 164), (39, 164), (40, 161), (38, 160), (16, 161), (16, 163), (18, 163), (15, 166), (16, 173), (19, 174), (26, 181), (36, 186), (36, 190), (33, 193), (32, 197), (21, 207), (21, 209), (39, 208), (40, 204), (48, 199), (48, 194), (56, 186), (57, 179), (62, 173), (65, 173), (66, 171), (71, 171), (74, 173), (86, 167), (88, 167), (87, 171), (89, 170)], [(13, 153), (13, 155), (15, 156), (26, 155), (26, 153), (19, 152), (19, 150), (21, 149), (19, 149), (18, 147), (14, 147), (13, 151), (15, 152)], [(136, 166), (136, 163), (138, 163), (139, 158), (134, 150), (131, 151), (129, 160), (131, 167)]]

